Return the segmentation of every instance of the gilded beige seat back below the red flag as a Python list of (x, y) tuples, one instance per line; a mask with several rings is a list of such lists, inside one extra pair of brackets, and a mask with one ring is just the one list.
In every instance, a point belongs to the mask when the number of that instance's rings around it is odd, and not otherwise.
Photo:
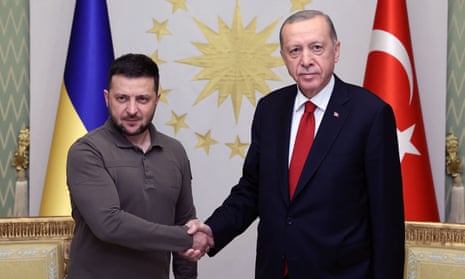
[(404, 278), (465, 278), (464, 224), (406, 222), (405, 230)]

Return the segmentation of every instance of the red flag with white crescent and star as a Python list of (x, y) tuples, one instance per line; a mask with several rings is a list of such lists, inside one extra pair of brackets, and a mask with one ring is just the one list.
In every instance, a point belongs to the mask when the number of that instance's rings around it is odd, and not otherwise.
[(364, 87), (396, 116), (405, 219), (439, 221), (405, 0), (378, 0)]

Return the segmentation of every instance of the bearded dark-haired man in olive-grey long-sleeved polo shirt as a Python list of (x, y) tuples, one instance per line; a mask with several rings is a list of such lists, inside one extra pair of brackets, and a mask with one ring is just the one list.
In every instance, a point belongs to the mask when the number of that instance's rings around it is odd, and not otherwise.
[(112, 64), (108, 83), (110, 117), (68, 153), (76, 222), (68, 279), (168, 279), (171, 254), (175, 278), (197, 278), (196, 263), (178, 252), (204, 252), (212, 242), (187, 234), (184, 224), (195, 218), (189, 160), (152, 124), (158, 67), (127, 54)]

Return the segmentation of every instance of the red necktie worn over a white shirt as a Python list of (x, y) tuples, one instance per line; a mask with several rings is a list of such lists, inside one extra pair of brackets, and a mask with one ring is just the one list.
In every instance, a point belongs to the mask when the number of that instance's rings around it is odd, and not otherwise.
[(305, 111), (300, 118), (299, 129), (295, 137), (294, 151), (289, 166), (289, 197), (292, 199), (300, 174), (307, 160), (308, 152), (313, 143), (315, 134), (315, 117), (313, 111), (316, 106), (310, 101), (305, 103)]

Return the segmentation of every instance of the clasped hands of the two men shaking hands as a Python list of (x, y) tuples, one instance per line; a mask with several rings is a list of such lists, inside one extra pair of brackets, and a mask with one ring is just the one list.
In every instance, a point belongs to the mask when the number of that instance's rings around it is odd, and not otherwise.
[(186, 226), (189, 228), (187, 233), (193, 237), (192, 248), (179, 254), (190, 261), (198, 261), (215, 246), (212, 230), (198, 219), (190, 220)]

